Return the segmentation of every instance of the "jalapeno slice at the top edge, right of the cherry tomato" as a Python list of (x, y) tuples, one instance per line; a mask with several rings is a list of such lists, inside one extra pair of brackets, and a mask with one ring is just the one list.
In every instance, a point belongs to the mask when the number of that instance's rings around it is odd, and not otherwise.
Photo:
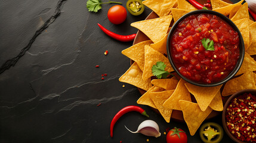
[(145, 9), (142, 0), (128, 0), (127, 1), (127, 10), (132, 15), (140, 15)]

